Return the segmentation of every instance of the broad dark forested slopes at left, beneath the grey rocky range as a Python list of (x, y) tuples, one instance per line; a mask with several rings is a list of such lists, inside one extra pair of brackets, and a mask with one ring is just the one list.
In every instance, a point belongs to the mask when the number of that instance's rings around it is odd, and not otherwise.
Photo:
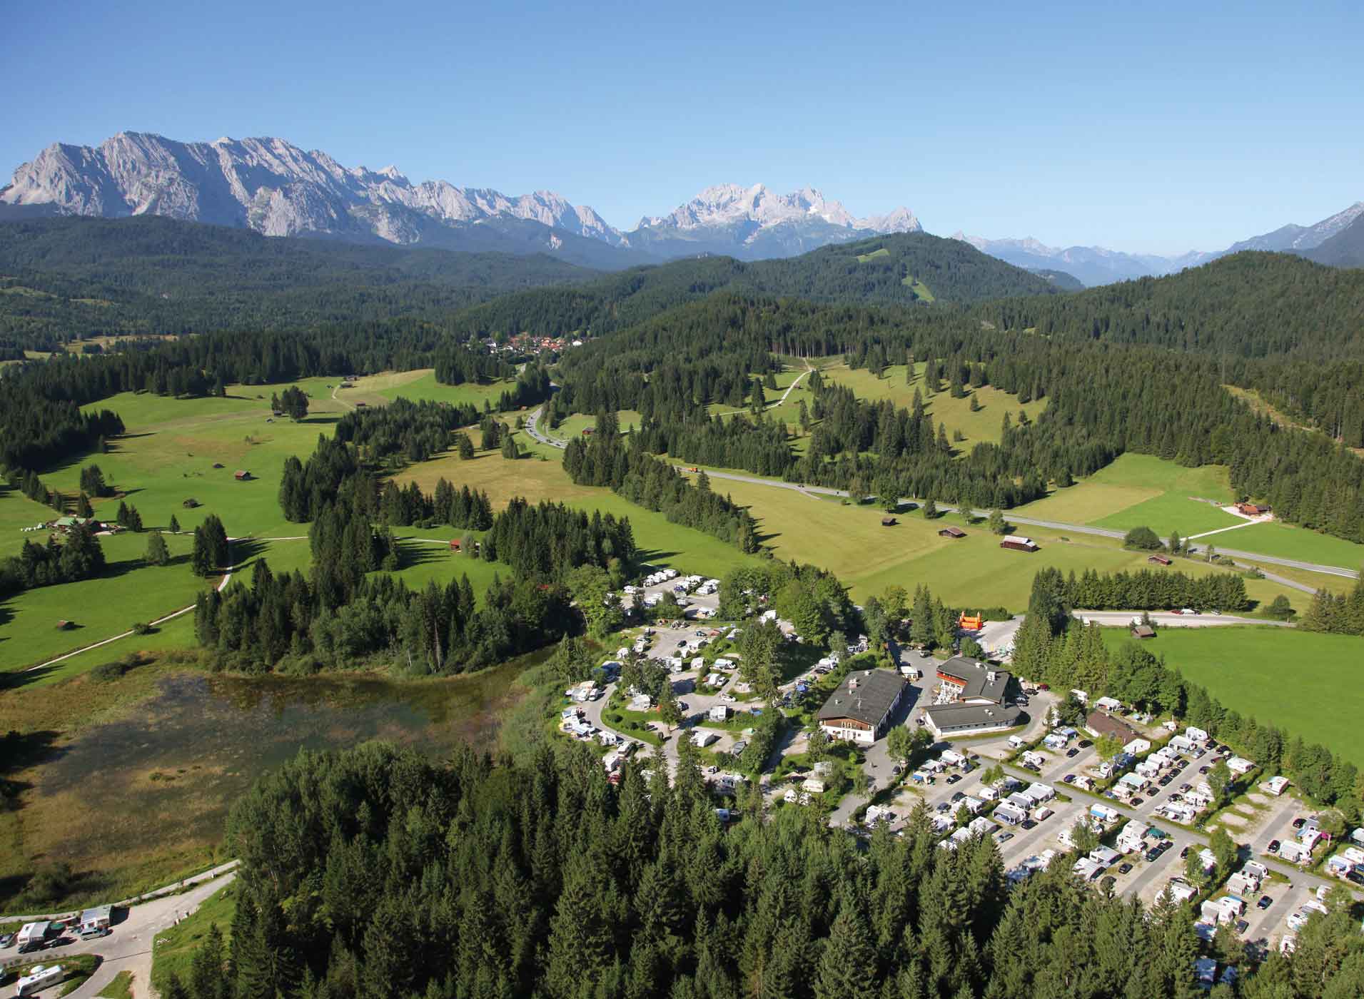
[(154, 215), (0, 224), (0, 341), (439, 319), (597, 271), (548, 256), (266, 237)]

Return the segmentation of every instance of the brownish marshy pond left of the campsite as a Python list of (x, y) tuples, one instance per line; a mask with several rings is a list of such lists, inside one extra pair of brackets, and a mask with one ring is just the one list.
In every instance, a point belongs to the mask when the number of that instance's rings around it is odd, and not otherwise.
[(221, 838), (231, 803), (301, 748), (371, 739), (434, 758), (460, 741), (491, 748), (496, 711), (524, 666), (420, 681), (172, 675), (127, 720), (57, 748), (30, 805), (85, 816), (61, 822), (52, 850), (78, 868), (166, 853), (190, 860)]

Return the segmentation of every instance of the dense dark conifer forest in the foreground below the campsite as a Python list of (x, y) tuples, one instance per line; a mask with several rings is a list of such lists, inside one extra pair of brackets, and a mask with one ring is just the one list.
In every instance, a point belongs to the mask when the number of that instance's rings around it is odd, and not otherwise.
[[(173, 999), (1019, 999), (1200, 995), (1187, 906), (1105, 898), (1057, 863), (1008, 887), (996, 844), (937, 848), (921, 805), (865, 846), (807, 810), (716, 818), (694, 750), (670, 784), (584, 747), (446, 765), (383, 744), (301, 754), (232, 811), (231, 943), (207, 938)], [(1245, 999), (1364, 987), (1346, 906)], [(1215, 996), (1232, 996), (1222, 985)]]

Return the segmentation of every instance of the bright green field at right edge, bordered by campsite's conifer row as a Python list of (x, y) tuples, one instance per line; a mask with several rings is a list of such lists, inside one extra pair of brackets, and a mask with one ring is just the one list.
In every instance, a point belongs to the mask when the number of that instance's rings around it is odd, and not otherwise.
[[(1105, 628), (1103, 639), (1113, 646), (1129, 641), (1124, 628)], [(1329, 710), (1359, 688), (1364, 639), (1297, 628), (1161, 628), (1142, 647), (1207, 687), (1225, 707), (1364, 766), (1364, 729), (1354, 713), (1344, 705)]]

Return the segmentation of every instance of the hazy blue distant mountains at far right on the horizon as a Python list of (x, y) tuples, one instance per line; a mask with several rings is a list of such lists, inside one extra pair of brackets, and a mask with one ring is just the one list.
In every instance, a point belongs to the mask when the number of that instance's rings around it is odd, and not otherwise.
[[(1214, 252), (1191, 251), (1178, 256), (1124, 253), (1117, 249), (1105, 249), (1103, 247), (1048, 247), (1034, 239), (986, 240), (979, 236), (966, 236), (960, 232), (953, 239), (966, 240), (982, 253), (997, 256), (1001, 260), (1012, 263), (1015, 267), (1037, 273), (1060, 270), (1073, 275), (1086, 285), (1108, 285), (1114, 281), (1174, 274), (1185, 267), (1196, 267), (1200, 263), (1215, 260), (1228, 253), (1239, 253), (1243, 249), (1267, 249), (1312, 256), (1312, 251), (1327, 240), (1344, 233), (1361, 215), (1364, 215), (1364, 202), (1356, 202), (1344, 211), (1323, 218), (1315, 225), (1290, 224), (1271, 233), (1233, 243), (1226, 249)], [(1339, 255), (1337, 253), (1335, 256)], [(1331, 262), (1335, 262), (1334, 258)]]

